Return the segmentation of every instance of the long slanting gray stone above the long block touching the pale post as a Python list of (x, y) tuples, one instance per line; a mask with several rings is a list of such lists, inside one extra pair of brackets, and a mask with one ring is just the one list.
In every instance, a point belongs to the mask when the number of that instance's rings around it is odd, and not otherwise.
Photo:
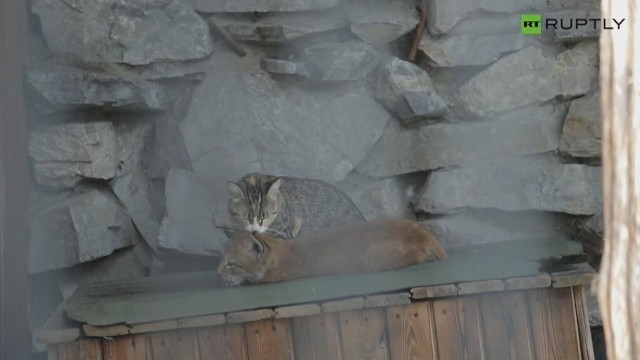
[(492, 121), (407, 128), (391, 121), (358, 170), (386, 177), (556, 150), (565, 109), (560, 105), (535, 106)]

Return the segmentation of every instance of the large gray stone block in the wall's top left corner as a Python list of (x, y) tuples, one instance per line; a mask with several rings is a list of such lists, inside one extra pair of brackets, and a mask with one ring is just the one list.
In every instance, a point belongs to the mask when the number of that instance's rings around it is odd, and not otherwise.
[(200, 59), (212, 51), (209, 27), (173, 0), (36, 0), (49, 49), (89, 64), (145, 65)]

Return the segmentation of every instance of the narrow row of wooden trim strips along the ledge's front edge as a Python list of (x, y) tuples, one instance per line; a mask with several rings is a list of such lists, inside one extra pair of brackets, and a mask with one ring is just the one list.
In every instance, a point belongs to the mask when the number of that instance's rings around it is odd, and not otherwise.
[[(61, 305), (56, 313), (47, 321), (46, 330), (43, 328), (38, 334), (39, 341), (49, 344), (72, 342), (81, 335), (87, 337), (114, 337), (131, 334), (151, 333), (186, 328), (198, 328), (219, 326), (224, 324), (247, 323), (271, 318), (295, 318), (303, 316), (319, 315), (323, 313), (335, 313), (342, 311), (360, 310), (374, 307), (392, 307), (409, 305), (415, 302), (426, 301), (443, 297), (459, 295), (473, 295), (490, 292), (516, 291), (535, 288), (575, 287), (588, 284), (595, 271), (587, 264), (572, 265), (561, 272), (552, 275), (540, 273), (536, 276), (516, 277), (509, 279), (497, 279), (477, 282), (465, 282), (457, 285), (436, 285), (415, 287), (411, 293), (399, 292), (391, 294), (369, 295), (366, 297), (354, 297), (342, 300), (328, 301), (323, 304), (307, 303), (298, 305), (280, 306), (276, 308), (264, 308), (248, 311), (238, 311), (227, 314), (213, 314), (194, 316), (183, 319), (155, 321), (133, 325), (116, 324), (109, 326), (82, 325), (82, 333), (79, 326), (70, 326), (68, 321), (62, 326)], [(556, 282), (552, 283), (552, 279)], [(553, 285), (553, 286), (552, 286)]]

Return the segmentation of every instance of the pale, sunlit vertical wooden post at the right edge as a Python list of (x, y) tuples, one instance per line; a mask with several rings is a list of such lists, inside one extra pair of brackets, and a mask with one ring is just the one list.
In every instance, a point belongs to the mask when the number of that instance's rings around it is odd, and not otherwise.
[(600, 36), (605, 249), (598, 282), (609, 359), (640, 359), (640, 21), (636, 0), (602, 0), (625, 18)]

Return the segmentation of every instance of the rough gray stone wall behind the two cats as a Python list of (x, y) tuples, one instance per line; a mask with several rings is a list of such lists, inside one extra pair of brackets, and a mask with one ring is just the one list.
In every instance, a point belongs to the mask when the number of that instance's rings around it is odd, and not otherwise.
[(252, 171), (335, 184), (448, 247), (598, 254), (598, 31), (520, 33), (524, 12), (596, 5), (429, 0), (409, 62), (411, 0), (32, 0), (32, 327), (84, 282), (214, 268), (225, 182)]

